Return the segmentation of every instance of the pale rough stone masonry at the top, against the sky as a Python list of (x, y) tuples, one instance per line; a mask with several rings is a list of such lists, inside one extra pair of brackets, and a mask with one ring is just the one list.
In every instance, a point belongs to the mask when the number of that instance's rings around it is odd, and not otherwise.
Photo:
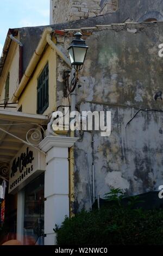
[(109, 13), (117, 8), (116, 0), (51, 0), (51, 23), (65, 23)]

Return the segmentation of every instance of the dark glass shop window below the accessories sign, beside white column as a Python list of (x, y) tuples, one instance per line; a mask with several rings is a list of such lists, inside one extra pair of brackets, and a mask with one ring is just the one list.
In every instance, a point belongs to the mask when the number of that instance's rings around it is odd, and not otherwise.
[(24, 245), (44, 244), (44, 174), (30, 182), (24, 197)]

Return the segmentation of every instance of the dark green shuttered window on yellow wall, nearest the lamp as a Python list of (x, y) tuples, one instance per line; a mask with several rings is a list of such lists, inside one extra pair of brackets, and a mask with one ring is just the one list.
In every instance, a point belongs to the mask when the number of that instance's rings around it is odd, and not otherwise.
[(48, 63), (37, 81), (37, 114), (43, 114), (49, 106), (49, 69)]

